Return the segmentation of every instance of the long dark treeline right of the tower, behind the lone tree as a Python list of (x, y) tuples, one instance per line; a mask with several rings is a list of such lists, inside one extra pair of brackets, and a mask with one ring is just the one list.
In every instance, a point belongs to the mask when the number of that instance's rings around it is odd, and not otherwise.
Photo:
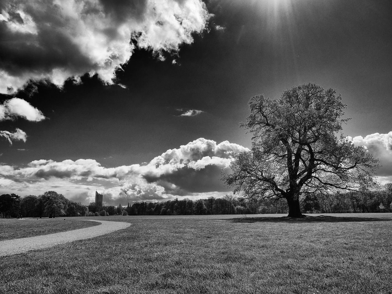
[[(303, 194), (303, 213), (392, 212), (392, 184), (377, 191)], [(285, 199), (246, 199), (226, 195), (223, 198), (168, 200), (165, 202), (137, 202), (117, 207), (128, 215), (198, 215), (198, 214), (287, 214)]]

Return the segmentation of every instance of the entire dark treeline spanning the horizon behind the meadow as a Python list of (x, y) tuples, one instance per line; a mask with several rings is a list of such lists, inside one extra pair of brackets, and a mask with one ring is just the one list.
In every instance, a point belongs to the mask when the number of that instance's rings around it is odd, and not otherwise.
[[(392, 183), (376, 191), (309, 193), (301, 196), (303, 213), (392, 212)], [(168, 200), (164, 202), (136, 202), (102, 206), (91, 202), (88, 206), (47, 191), (42, 195), (16, 194), (0, 196), (0, 217), (111, 216), (111, 215), (203, 215), (203, 214), (269, 214), (289, 212), (287, 201), (247, 199), (225, 195), (223, 198)]]

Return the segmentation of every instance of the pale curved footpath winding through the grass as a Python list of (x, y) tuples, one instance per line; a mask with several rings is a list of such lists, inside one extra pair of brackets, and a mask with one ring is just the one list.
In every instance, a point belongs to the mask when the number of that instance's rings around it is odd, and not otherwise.
[(0, 256), (9, 256), (18, 253), (24, 253), (30, 250), (43, 249), (53, 247), (54, 245), (64, 244), (77, 240), (84, 240), (105, 235), (116, 230), (129, 227), (131, 223), (123, 221), (98, 221), (101, 224), (94, 227), (76, 229), (71, 231), (0, 241)]

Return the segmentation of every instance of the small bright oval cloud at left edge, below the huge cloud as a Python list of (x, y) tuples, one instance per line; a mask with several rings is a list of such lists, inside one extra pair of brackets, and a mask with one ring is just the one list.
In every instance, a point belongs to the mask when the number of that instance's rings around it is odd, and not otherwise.
[(45, 119), (41, 111), (20, 98), (11, 98), (0, 104), (0, 121), (13, 120), (17, 117), (25, 118), (30, 122), (40, 122)]

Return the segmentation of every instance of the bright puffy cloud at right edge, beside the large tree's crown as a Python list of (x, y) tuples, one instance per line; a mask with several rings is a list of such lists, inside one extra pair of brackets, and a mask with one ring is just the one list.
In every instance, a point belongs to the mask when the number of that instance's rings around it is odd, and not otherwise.
[(387, 134), (374, 133), (364, 137), (348, 137), (354, 145), (364, 146), (373, 154), (374, 158), (380, 160), (382, 167), (377, 171), (380, 179), (392, 176), (392, 131)]

